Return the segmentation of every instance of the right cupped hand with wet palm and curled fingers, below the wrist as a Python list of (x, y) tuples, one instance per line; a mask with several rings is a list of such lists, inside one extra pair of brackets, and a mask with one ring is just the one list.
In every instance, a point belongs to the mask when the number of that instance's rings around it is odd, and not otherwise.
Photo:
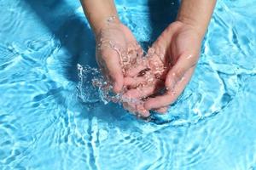
[[(125, 81), (125, 85), (136, 87), (148, 80), (147, 77), (151, 82), (143, 88), (133, 88), (125, 95), (144, 99), (146, 110), (166, 112), (167, 106), (177, 99), (192, 77), (201, 50), (200, 35), (195, 28), (180, 21), (168, 26), (148, 51), (148, 62), (144, 68), (150, 69), (149, 76), (145, 74), (144, 79), (140, 77), (138, 80), (137, 70), (128, 71), (130, 81)], [(160, 90), (166, 90), (165, 94), (146, 98)]]

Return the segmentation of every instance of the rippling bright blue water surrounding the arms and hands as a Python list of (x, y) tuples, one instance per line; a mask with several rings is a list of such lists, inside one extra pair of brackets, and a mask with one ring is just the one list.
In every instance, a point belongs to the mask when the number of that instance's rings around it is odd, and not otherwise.
[[(144, 48), (178, 7), (116, 3)], [(79, 1), (0, 0), (0, 169), (256, 169), (255, 4), (218, 1), (189, 86), (144, 122), (92, 87), (95, 42)]]

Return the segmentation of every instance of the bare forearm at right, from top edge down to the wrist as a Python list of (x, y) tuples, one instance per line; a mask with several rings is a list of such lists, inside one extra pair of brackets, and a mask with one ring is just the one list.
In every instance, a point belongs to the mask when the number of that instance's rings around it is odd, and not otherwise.
[(204, 37), (216, 0), (183, 0), (177, 20), (195, 28)]

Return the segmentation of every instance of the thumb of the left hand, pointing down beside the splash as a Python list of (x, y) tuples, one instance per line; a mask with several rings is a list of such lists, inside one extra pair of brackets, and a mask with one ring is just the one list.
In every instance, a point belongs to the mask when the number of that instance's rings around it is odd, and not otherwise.
[(119, 54), (113, 49), (105, 49), (102, 59), (108, 68), (108, 74), (113, 81), (113, 92), (119, 93), (123, 88), (124, 76), (119, 64)]

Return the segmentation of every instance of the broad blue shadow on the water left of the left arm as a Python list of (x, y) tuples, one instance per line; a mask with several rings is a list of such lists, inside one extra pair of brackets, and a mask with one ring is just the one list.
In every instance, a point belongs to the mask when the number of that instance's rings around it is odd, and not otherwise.
[[(73, 14), (74, 7), (61, 0), (26, 0), (38, 19), (60, 40), (67, 56), (61, 58), (64, 76), (78, 82), (77, 64), (96, 66), (95, 40), (85, 17)], [(79, 2), (76, 8), (79, 7)]]

